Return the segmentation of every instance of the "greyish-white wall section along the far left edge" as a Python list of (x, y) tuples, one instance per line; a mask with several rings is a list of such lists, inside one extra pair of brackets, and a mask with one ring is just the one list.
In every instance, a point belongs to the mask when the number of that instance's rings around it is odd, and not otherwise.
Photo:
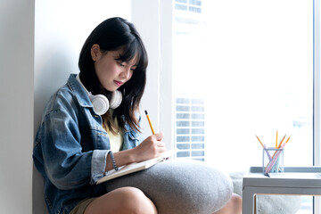
[(31, 213), (34, 1), (0, 0), (0, 212)]

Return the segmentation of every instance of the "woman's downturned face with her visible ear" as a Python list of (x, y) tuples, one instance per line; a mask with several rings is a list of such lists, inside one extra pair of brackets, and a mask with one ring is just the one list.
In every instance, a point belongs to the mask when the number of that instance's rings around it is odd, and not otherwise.
[(102, 84), (108, 91), (116, 91), (124, 85), (133, 75), (136, 69), (136, 56), (129, 62), (118, 61), (121, 50), (102, 53), (99, 45), (93, 45), (92, 57), (95, 61), (95, 72)]

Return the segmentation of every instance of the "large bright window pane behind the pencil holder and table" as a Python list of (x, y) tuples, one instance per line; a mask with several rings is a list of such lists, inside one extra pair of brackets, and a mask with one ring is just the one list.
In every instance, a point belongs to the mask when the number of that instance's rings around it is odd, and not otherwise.
[[(245, 171), (262, 162), (255, 135), (272, 147), (278, 130), (279, 140), (291, 136), (285, 166), (313, 165), (313, 1), (175, 0), (173, 8), (177, 158)], [(302, 197), (302, 213), (311, 198)]]

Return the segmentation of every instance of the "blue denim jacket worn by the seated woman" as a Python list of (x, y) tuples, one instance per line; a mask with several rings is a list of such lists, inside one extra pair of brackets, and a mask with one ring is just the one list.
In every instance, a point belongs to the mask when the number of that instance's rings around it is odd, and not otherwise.
[[(33, 159), (45, 180), (49, 213), (67, 214), (81, 200), (106, 193), (104, 185), (95, 185), (103, 177), (111, 149), (102, 122), (74, 74), (45, 106)], [(142, 141), (128, 124), (126, 129), (121, 150), (134, 148)]]

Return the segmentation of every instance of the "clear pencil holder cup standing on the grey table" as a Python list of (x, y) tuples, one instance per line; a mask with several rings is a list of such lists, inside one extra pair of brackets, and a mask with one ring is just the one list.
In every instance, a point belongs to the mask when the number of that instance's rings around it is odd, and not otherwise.
[(284, 149), (264, 148), (262, 170), (264, 175), (284, 172)]

